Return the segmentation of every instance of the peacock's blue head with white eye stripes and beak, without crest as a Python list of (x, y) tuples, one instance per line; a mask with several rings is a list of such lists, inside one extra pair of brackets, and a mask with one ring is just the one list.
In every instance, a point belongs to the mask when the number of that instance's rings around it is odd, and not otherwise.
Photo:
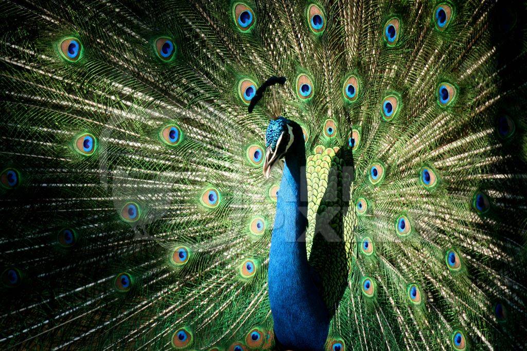
[(290, 152), (295, 137), (298, 139), (299, 136), (302, 136), (302, 131), (297, 123), (281, 116), (271, 120), (265, 134), (267, 151), (264, 161), (264, 175), (266, 178), (269, 178), (272, 166)]

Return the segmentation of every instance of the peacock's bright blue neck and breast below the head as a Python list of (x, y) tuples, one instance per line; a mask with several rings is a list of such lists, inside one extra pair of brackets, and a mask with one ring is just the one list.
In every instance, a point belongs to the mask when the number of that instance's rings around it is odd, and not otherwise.
[(294, 143), (286, 154), (278, 192), (269, 254), (269, 301), (275, 336), (283, 347), (320, 350), (327, 338), (329, 317), (307, 260), (305, 166), (304, 143)]

